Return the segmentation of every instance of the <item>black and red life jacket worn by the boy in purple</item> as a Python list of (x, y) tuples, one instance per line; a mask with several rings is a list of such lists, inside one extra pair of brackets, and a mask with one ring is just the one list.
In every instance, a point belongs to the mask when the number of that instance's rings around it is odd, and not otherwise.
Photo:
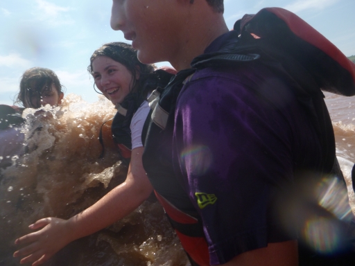
[(309, 24), (282, 8), (265, 8), (245, 15), (234, 25), (235, 43), (216, 53), (203, 54), (180, 71), (166, 88), (153, 91), (148, 101), (153, 112), (144, 130), (143, 163), (157, 199), (175, 228), (192, 265), (209, 265), (202, 222), (189, 196), (175, 177), (171, 145), (177, 98), (185, 82), (209, 66), (231, 66), (258, 61), (290, 82), (300, 85), (294, 93), (309, 113), (322, 146), (324, 174), (336, 165), (333, 127), (320, 89), (355, 95), (355, 65)]

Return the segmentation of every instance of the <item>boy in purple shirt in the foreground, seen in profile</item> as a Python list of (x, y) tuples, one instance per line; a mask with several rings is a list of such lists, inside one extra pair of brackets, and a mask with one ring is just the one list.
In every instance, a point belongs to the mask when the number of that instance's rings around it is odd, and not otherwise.
[(305, 213), (322, 210), (292, 193), (295, 182), (311, 187), (335, 160), (320, 87), (306, 83), (316, 91), (325, 142), (295, 96), (306, 87), (283, 69), (252, 58), (201, 67), (205, 55), (238, 42), (223, 0), (117, 0), (111, 26), (132, 40), (141, 62), (168, 61), (180, 71), (150, 98), (143, 163), (191, 263), (298, 265), (297, 230)]

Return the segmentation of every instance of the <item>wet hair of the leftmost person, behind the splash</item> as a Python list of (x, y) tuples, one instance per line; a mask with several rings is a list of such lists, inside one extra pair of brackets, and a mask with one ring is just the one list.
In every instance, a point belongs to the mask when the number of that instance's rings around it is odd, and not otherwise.
[[(63, 92), (58, 76), (51, 69), (43, 67), (27, 69), (19, 83), (19, 95), (15, 103), (21, 103), (26, 108), (40, 108), (42, 93), (51, 90), (52, 85), (59, 95)], [(33, 96), (37, 97), (35, 103), (31, 101)]]

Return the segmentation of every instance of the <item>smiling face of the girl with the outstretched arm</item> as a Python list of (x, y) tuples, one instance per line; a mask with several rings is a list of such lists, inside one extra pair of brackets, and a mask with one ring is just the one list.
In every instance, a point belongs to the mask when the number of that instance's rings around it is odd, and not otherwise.
[(132, 89), (132, 74), (123, 64), (107, 56), (99, 56), (92, 62), (92, 76), (96, 87), (116, 105), (122, 103)]

